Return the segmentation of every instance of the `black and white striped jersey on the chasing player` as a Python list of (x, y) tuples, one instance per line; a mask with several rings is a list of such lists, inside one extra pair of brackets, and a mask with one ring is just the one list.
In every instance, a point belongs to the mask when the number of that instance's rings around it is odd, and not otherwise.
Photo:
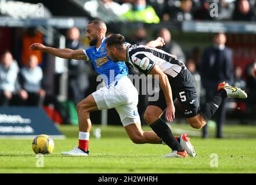
[(148, 75), (154, 65), (172, 77), (177, 76), (185, 64), (179, 61), (176, 56), (166, 53), (163, 50), (143, 45), (131, 45), (127, 48), (127, 61), (139, 73)]

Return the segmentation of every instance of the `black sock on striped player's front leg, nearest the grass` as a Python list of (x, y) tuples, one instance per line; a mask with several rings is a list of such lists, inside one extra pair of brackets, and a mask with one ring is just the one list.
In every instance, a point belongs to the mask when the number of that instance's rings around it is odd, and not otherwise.
[(183, 151), (181, 144), (172, 135), (171, 128), (164, 121), (158, 119), (150, 127), (172, 150)]

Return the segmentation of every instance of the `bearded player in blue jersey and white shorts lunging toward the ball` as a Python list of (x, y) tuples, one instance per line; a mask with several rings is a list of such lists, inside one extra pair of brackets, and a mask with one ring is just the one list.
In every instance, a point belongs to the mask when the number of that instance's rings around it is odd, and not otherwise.
[[(95, 110), (115, 108), (129, 138), (134, 143), (164, 143), (154, 131), (143, 131), (138, 114), (138, 91), (128, 78), (125, 62), (113, 62), (106, 51), (106, 24), (101, 20), (88, 23), (86, 37), (92, 46), (86, 50), (56, 49), (39, 43), (30, 46), (30, 50), (39, 50), (60, 58), (75, 60), (91, 60), (95, 70), (104, 76), (106, 86), (88, 95), (77, 105), (79, 120), (79, 146), (71, 151), (63, 152), (69, 156), (88, 156), (89, 132), (91, 120), (89, 114)], [(163, 39), (162, 39), (163, 42)], [(163, 46), (161, 38), (150, 42), (150, 46)], [(167, 116), (167, 119), (170, 117)]]

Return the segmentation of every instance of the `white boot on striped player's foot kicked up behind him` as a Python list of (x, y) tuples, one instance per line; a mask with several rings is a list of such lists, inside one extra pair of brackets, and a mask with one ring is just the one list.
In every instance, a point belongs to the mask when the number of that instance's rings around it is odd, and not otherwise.
[(245, 91), (237, 88), (235, 86), (230, 86), (228, 83), (222, 82), (218, 86), (218, 90), (223, 89), (226, 91), (228, 98), (247, 98), (247, 94)]

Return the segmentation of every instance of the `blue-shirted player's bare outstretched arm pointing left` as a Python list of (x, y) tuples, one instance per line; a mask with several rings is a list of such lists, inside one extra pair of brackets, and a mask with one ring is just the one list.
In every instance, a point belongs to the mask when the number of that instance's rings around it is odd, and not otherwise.
[(66, 59), (75, 59), (75, 60), (87, 60), (84, 51), (82, 50), (71, 50), (71, 49), (57, 49), (54, 47), (47, 47), (40, 43), (34, 43), (29, 47), (30, 50), (38, 50), (45, 53), (52, 54), (53, 56), (66, 58)]

